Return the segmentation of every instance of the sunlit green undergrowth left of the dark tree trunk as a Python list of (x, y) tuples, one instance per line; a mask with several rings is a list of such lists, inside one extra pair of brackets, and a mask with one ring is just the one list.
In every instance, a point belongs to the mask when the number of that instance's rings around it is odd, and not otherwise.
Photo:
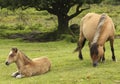
[(0, 38), (22, 37), (31, 32), (43, 33), (55, 30), (55, 21), (49, 19), (52, 16), (46, 11), (38, 12), (33, 8), (24, 11), (18, 9), (14, 12), (6, 9), (0, 11)]

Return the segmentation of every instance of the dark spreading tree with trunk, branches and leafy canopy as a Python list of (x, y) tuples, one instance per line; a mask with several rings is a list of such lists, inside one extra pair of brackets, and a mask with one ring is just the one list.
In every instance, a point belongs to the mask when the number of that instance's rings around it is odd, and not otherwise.
[[(100, 3), (102, 0), (0, 0), (1, 7), (10, 9), (34, 7), (38, 11), (47, 10), (58, 18), (58, 33), (68, 33), (69, 20), (90, 8), (90, 4)], [(82, 7), (83, 4), (88, 6)], [(70, 9), (76, 5), (76, 11), (68, 15)]]

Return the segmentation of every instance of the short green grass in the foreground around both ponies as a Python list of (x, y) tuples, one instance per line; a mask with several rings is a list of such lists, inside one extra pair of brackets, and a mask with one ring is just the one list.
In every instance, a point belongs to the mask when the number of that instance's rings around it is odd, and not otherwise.
[[(106, 43), (106, 61), (94, 68), (86, 43), (83, 49), (84, 60), (78, 53), (72, 53), (76, 43), (66, 41), (30, 43), (19, 40), (0, 40), (0, 84), (119, 84), (120, 83), (120, 40), (115, 39), (117, 62), (111, 60), (109, 43)], [(6, 66), (5, 60), (12, 47), (22, 50), (29, 58), (47, 56), (52, 61), (51, 71), (38, 76), (16, 79), (11, 74), (16, 65)]]

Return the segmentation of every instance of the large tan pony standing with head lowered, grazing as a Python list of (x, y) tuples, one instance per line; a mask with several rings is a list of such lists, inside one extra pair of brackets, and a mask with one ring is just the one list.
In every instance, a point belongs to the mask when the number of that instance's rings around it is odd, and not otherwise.
[(89, 41), (90, 55), (93, 66), (97, 66), (98, 61), (105, 61), (105, 42), (110, 41), (112, 60), (116, 61), (114, 54), (114, 24), (112, 19), (106, 14), (88, 13), (81, 19), (80, 37), (78, 46), (75, 49), (79, 51), (79, 58), (82, 60), (82, 48)]

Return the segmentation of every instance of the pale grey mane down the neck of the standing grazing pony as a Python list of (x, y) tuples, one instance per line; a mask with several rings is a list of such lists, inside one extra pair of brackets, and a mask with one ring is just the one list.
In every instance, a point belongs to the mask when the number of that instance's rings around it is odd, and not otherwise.
[(95, 35), (94, 35), (94, 38), (93, 38), (93, 41), (91, 42), (91, 45), (95, 44), (100, 36), (100, 31), (101, 31), (101, 28), (103, 27), (104, 25), (104, 22), (106, 20), (106, 14), (103, 13), (100, 17), (100, 20), (98, 22), (98, 26), (97, 26), (97, 29), (96, 29), (96, 32), (95, 32)]

